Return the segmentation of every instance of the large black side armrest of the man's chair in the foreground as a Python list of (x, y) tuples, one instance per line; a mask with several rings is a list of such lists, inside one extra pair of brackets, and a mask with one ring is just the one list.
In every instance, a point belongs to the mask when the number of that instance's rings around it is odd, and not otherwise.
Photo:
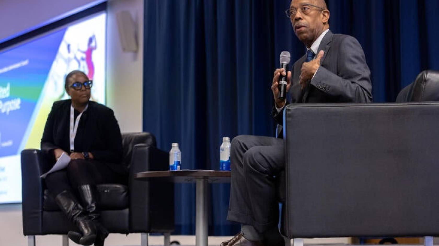
[(288, 105), (290, 238), (439, 235), (439, 103)]

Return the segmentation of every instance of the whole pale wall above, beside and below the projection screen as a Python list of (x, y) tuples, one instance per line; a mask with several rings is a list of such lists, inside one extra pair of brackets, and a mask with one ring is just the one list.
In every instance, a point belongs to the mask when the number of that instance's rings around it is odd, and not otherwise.
[[(0, 42), (42, 23), (58, 20), (103, 0), (0, 0)], [(142, 130), (142, 64), (144, 0), (109, 0), (107, 24), (107, 105), (115, 111), (122, 132)], [(115, 21), (118, 11), (128, 10), (137, 22), (139, 51), (124, 53)], [(14, 23), (14, 25), (4, 25)], [(153, 239), (160, 242), (161, 239)], [(37, 236), (37, 245), (61, 245), (61, 236)], [(111, 234), (105, 245), (139, 245), (140, 235)], [(21, 204), (0, 205), (0, 246), (25, 246)], [(70, 242), (70, 245), (75, 245)]]

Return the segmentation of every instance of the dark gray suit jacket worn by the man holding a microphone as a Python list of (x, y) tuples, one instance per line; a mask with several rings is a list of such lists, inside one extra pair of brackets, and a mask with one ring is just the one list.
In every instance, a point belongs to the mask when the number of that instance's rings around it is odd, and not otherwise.
[[(320, 43), (320, 51), (324, 51), (320, 68), (303, 90), (299, 76), (306, 56), (294, 63), (291, 70), (291, 103), (372, 101), (371, 71), (363, 49), (354, 37), (329, 31)], [(279, 125), (283, 124), (283, 111), (277, 112), (275, 106), (271, 111)]]

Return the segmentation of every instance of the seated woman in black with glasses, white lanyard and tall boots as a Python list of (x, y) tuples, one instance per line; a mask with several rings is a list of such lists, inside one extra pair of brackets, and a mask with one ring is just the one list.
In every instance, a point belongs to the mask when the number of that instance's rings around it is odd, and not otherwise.
[[(68, 236), (82, 245), (104, 245), (108, 231), (98, 222), (96, 185), (123, 183), (127, 169), (122, 165), (122, 137), (113, 111), (90, 101), (90, 81), (75, 70), (65, 78), (72, 98), (56, 101), (47, 118), (41, 150), (53, 157), (70, 156), (67, 168), (47, 175), (50, 193), (79, 232)], [(79, 199), (75, 194), (79, 194)], [(78, 202), (81, 201), (81, 203)]]

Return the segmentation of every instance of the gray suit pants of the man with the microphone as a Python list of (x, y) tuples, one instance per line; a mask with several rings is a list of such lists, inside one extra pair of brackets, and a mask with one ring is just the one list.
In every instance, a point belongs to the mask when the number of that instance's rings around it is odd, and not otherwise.
[(273, 176), (285, 168), (283, 140), (237, 136), (231, 145), (230, 166), (227, 220), (252, 225), (260, 233), (277, 226), (279, 204)]

